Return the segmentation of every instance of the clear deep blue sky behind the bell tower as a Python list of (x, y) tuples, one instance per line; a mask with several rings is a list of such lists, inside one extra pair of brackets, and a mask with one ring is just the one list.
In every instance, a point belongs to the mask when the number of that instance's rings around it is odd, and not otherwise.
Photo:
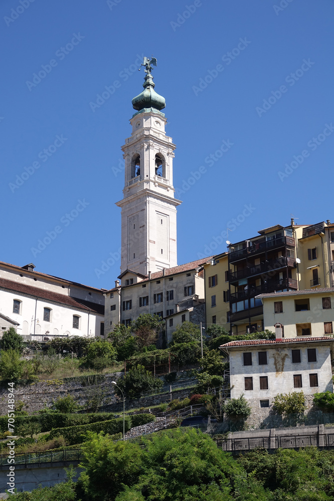
[(334, 220), (333, 17), (330, 0), (3, 0), (1, 260), (113, 286), (143, 55), (177, 146), (178, 264), (291, 214)]

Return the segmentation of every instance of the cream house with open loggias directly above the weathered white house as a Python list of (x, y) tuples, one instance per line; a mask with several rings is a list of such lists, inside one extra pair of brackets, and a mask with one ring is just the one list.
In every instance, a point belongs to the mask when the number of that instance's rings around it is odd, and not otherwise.
[(264, 328), (283, 325), (284, 338), (333, 334), (334, 289), (276, 292), (257, 296), (263, 304)]

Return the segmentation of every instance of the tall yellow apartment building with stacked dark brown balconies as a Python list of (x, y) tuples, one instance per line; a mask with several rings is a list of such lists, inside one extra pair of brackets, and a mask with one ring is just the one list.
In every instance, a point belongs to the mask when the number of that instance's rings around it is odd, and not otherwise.
[[(228, 297), (227, 322), (234, 334), (264, 329), (261, 294), (334, 287), (334, 224), (328, 219), (313, 225), (291, 219), (288, 226), (258, 233), (228, 245), (228, 287), (219, 307)], [(207, 324), (213, 323), (209, 290), (206, 283)]]

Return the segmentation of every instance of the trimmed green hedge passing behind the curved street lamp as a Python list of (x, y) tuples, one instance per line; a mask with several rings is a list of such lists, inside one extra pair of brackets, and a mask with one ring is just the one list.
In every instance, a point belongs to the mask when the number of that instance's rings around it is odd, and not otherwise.
[[(131, 418), (125, 418), (125, 432), (131, 429)], [(63, 435), (66, 442), (70, 445), (79, 444), (84, 441), (84, 436), (88, 431), (95, 433), (108, 433), (114, 435), (123, 431), (123, 417), (111, 419), (109, 421), (99, 421), (97, 423), (83, 424), (81, 426), (69, 426), (67, 428), (55, 428), (50, 432), (50, 439)]]

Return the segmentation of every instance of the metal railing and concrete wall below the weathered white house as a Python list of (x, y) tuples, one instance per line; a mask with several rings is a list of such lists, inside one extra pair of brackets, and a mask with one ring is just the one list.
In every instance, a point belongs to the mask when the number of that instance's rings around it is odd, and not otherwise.
[(242, 438), (225, 438), (217, 440), (222, 450), (232, 453), (247, 452), (255, 448), (263, 449), (299, 449), (300, 447), (334, 448), (334, 433), (313, 433), (305, 435), (275, 435)]

